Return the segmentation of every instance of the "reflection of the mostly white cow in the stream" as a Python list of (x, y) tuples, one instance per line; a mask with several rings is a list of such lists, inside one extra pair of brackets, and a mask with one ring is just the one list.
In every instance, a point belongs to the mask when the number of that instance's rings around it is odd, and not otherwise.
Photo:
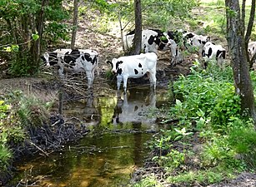
[(155, 91), (133, 91), (118, 96), (114, 109), (113, 124), (132, 122), (133, 124), (154, 124), (155, 118), (148, 116), (150, 110), (156, 107)]

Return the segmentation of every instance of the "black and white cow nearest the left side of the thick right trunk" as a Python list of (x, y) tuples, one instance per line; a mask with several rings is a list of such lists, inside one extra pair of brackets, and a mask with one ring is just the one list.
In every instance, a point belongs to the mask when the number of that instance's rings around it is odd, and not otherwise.
[(206, 42), (203, 46), (203, 59), (208, 62), (210, 59), (215, 59), (217, 65), (223, 69), (226, 50), (221, 45), (215, 45), (212, 42)]

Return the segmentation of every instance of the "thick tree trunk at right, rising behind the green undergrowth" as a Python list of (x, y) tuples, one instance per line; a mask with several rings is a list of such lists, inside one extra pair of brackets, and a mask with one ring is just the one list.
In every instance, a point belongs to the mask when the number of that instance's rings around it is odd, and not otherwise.
[[(243, 3), (245, 0), (243, 0)], [(255, 8), (255, 1), (252, 1)], [(256, 124), (256, 111), (254, 106), (253, 86), (249, 75), (248, 68), (248, 54), (245, 45), (245, 39), (248, 43), (247, 37), (244, 37), (244, 15), (240, 13), (240, 6), (238, 0), (225, 0), (226, 17), (227, 17), (227, 40), (231, 56), (231, 64), (233, 68), (233, 80), (235, 91), (241, 98), (242, 111), (249, 111), (252, 116), (254, 124)], [(244, 11), (244, 10), (243, 10)], [(254, 17), (255, 12), (251, 12), (250, 17)], [(251, 32), (251, 20), (248, 22), (247, 33)], [(256, 125), (255, 125), (256, 128)]]

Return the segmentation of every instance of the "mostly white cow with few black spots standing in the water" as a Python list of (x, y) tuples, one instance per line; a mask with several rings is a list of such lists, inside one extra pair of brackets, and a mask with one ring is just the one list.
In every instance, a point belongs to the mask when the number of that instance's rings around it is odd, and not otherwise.
[(127, 91), (128, 78), (140, 78), (149, 74), (150, 86), (156, 88), (156, 68), (158, 56), (154, 52), (142, 53), (140, 55), (113, 58), (108, 64), (112, 66), (112, 72), (117, 74), (117, 86), (120, 90), (123, 81), (124, 92)]

